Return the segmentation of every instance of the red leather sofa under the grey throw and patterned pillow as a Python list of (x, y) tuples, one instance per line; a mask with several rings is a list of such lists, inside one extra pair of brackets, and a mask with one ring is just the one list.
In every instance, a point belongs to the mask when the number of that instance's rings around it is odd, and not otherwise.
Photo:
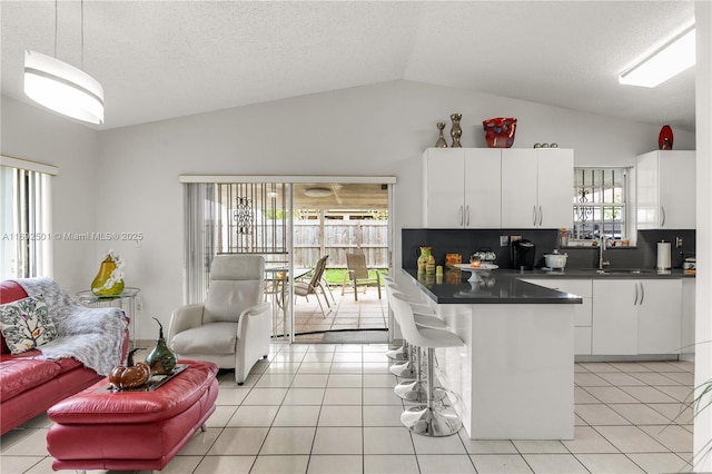
[[(0, 283), (0, 304), (26, 298), (24, 289), (13, 280)], [(128, 330), (123, 354), (128, 349)], [(73, 358), (46, 361), (39, 350), (11, 355), (0, 334), (0, 434), (40, 415), (57, 402), (103, 378)]]

